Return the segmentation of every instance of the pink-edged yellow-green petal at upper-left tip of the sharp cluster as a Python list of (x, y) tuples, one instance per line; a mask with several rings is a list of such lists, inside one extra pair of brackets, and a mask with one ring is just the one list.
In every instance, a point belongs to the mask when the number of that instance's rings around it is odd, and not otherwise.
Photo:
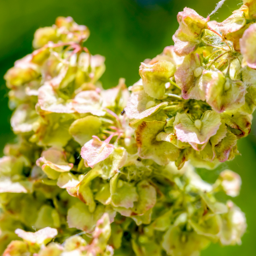
[(201, 32), (207, 28), (207, 19), (198, 15), (195, 10), (184, 8), (177, 14), (179, 28), (172, 37), (174, 51), (177, 55), (188, 55), (200, 43)]

